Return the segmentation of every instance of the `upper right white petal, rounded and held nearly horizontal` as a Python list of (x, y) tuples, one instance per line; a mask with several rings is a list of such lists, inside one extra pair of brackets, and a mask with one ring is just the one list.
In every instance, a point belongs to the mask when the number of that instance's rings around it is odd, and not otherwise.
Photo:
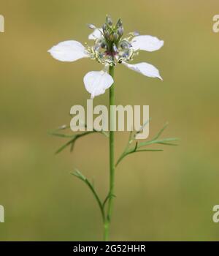
[(131, 40), (131, 45), (134, 50), (154, 51), (159, 50), (164, 41), (152, 36), (138, 36)]

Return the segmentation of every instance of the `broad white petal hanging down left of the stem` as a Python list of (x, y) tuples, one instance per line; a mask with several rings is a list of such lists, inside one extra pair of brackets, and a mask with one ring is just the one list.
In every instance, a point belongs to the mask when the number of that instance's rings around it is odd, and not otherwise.
[(113, 82), (112, 76), (104, 71), (91, 71), (84, 77), (85, 88), (91, 94), (91, 99), (104, 94)]

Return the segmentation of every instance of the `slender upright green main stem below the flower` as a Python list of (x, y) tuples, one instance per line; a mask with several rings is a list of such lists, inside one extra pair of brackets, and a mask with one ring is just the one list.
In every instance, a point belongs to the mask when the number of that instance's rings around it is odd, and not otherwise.
[[(114, 67), (110, 66), (110, 75), (114, 78)], [(110, 87), (110, 107), (115, 105), (115, 94), (114, 94), (114, 84)], [(113, 112), (113, 111), (112, 111)], [(112, 131), (114, 116), (110, 111), (110, 192), (109, 192), (109, 201), (107, 209), (107, 218), (104, 223), (104, 241), (109, 240), (109, 229), (110, 222), (112, 217), (112, 202), (114, 198), (114, 187), (115, 187), (115, 159), (114, 159), (114, 131)]]

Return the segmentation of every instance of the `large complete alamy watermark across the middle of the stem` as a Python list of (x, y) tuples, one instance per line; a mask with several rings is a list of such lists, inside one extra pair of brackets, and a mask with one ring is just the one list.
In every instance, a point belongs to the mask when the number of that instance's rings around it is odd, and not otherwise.
[[(141, 110), (142, 108), (142, 110)], [(93, 100), (87, 100), (86, 118), (85, 108), (74, 105), (70, 114), (73, 116), (70, 127), (73, 132), (77, 131), (137, 131), (136, 139), (146, 139), (149, 136), (149, 106), (134, 105), (111, 105), (110, 113), (106, 106), (97, 105), (93, 108)], [(93, 118), (93, 115), (97, 115)], [(109, 116), (113, 118), (109, 121)], [(85, 120), (86, 119), (86, 120)], [(126, 119), (126, 121), (125, 121)], [(142, 119), (142, 124), (141, 124)], [(85, 125), (86, 124), (86, 125)]]

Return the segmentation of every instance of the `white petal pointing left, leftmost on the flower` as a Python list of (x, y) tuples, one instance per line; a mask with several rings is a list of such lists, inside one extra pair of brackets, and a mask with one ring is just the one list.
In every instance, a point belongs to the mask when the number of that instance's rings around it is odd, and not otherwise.
[(77, 61), (77, 59), (88, 57), (85, 47), (80, 42), (74, 40), (60, 42), (48, 50), (48, 52), (58, 61)]

